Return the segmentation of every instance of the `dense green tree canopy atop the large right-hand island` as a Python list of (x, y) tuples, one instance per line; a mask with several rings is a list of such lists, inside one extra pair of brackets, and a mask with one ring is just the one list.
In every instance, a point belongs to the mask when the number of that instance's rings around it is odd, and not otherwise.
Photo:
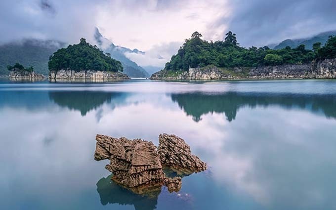
[(214, 65), (217, 67), (258, 67), (281, 64), (304, 64), (314, 59), (336, 57), (336, 37), (330, 37), (324, 47), (315, 43), (313, 50), (301, 44), (295, 48), (270, 49), (267, 46), (245, 48), (239, 46), (236, 34), (231, 31), (224, 41), (208, 42), (198, 32), (185, 40), (176, 55), (173, 55), (166, 70), (187, 71), (189, 68)]

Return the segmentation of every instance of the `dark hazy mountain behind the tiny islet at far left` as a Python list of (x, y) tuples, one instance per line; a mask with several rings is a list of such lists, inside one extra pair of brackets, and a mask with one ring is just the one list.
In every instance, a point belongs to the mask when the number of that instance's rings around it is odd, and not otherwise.
[(63, 42), (34, 39), (0, 45), (0, 75), (9, 74), (7, 65), (15, 63), (33, 66), (36, 73), (47, 75), (49, 56), (64, 45)]

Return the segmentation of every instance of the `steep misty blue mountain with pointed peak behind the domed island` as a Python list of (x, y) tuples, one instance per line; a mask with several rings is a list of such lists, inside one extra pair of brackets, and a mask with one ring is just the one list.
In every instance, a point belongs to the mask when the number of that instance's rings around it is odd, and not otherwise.
[(103, 37), (102, 34), (100, 34), (98, 28), (95, 30), (94, 39), (98, 43), (98, 47), (103, 49), (103, 51), (110, 53), (111, 57), (114, 59), (119, 60), (122, 62), (124, 66), (124, 73), (133, 78), (148, 78), (150, 75), (144, 70), (141, 66), (138, 66), (135, 62), (131, 61), (125, 56), (126, 52), (134, 52), (134, 53), (141, 53), (144, 52), (139, 51), (138, 49), (128, 49), (123, 46), (118, 46)]

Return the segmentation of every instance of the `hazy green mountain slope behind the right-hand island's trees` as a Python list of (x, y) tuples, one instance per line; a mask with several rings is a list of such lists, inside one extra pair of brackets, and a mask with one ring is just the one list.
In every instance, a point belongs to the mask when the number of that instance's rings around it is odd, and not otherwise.
[(284, 40), (283, 42), (280, 42), (278, 45), (276, 45), (274, 49), (282, 49), (282, 48), (285, 48), (286, 46), (295, 48), (300, 44), (304, 44), (306, 46), (306, 49), (313, 49), (314, 43), (321, 42), (323, 46), (327, 42), (330, 36), (336, 36), (336, 31), (324, 32), (324, 33), (318, 34), (314, 37), (307, 38), (307, 39), (295, 39), (295, 40), (287, 39), (287, 40)]

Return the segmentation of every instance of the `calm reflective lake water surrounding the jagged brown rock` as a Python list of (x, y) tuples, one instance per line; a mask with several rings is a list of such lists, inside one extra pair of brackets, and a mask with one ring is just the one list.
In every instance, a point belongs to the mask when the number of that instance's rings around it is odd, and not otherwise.
[[(0, 82), (1, 210), (336, 210), (336, 81)], [(95, 135), (186, 140), (209, 170), (135, 195)]]

